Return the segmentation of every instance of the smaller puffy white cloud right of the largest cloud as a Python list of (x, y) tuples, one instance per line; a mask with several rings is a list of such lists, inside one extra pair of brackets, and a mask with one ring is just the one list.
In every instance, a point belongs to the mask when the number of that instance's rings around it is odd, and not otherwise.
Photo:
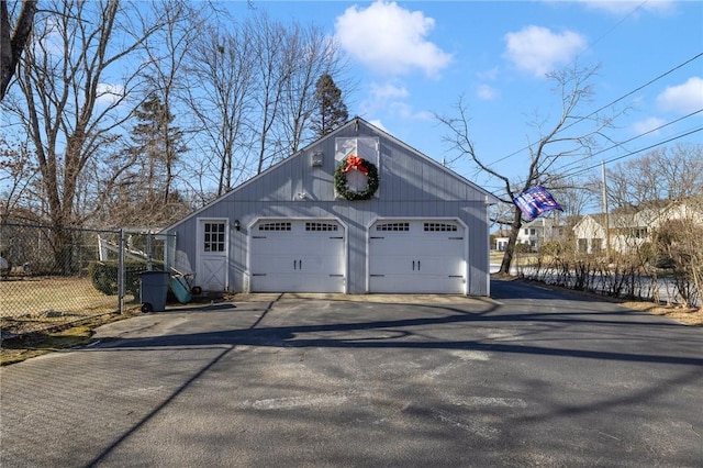
[(505, 42), (504, 57), (536, 77), (544, 77), (569, 63), (587, 45), (585, 37), (574, 32), (553, 33), (547, 27), (534, 25), (505, 34)]

